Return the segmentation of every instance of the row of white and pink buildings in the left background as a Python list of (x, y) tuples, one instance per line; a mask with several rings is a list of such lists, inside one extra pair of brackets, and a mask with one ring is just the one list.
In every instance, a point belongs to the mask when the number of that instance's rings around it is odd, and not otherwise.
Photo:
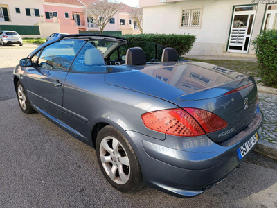
[[(22, 37), (48, 37), (52, 33), (76, 34), (79, 31), (100, 31), (87, 17), (86, 8), (96, 0), (0, 0), (0, 30), (17, 31)], [(98, 1), (98, 0), (97, 0)], [(123, 34), (139, 33), (131, 18), (132, 8), (120, 3), (120, 11), (105, 31)]]

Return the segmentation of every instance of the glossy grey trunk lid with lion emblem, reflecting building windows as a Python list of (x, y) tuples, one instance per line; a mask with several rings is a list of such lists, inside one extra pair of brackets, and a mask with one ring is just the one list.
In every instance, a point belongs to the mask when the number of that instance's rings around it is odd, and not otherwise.
[[(149, 94), (179, 107), (207, 110), (224, 119), (228, 123), (226, 128), (208, 134), (216, 142), (240, 132), (256, 113), (255, 80), (229, 69), (203, 62), (164, 62), (129, 69), (126, 66), (123, 71), (107, 74), (106, 83)], [(251, 83), (239, 92), (226, 94)]]

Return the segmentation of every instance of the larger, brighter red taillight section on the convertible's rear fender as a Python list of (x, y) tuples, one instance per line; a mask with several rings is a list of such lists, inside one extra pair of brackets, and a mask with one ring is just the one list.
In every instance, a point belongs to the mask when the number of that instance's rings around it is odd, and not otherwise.
[(167, 135), (181, 137), (205, 135), (195, 119), (181, 108), (148, 112), (141, 118), (147, 128)]

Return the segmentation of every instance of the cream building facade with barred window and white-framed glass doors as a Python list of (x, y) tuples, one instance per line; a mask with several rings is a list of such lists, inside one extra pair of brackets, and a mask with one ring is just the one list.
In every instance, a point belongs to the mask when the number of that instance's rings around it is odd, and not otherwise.
[(140, 0), (143, 31), (196, 35), (192, 55), (253, 56), (252, 40), (277, 28), (277, 5), (254, 1)]

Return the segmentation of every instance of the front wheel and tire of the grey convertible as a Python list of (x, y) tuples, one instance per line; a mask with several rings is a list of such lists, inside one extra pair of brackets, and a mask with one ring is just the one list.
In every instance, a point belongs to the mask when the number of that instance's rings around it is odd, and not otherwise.
[(17, 82), (17, 101), (22, 112), (26, 114), (33, 114), (35, 110), (30, 105), (26, 91), (20, 81)]

